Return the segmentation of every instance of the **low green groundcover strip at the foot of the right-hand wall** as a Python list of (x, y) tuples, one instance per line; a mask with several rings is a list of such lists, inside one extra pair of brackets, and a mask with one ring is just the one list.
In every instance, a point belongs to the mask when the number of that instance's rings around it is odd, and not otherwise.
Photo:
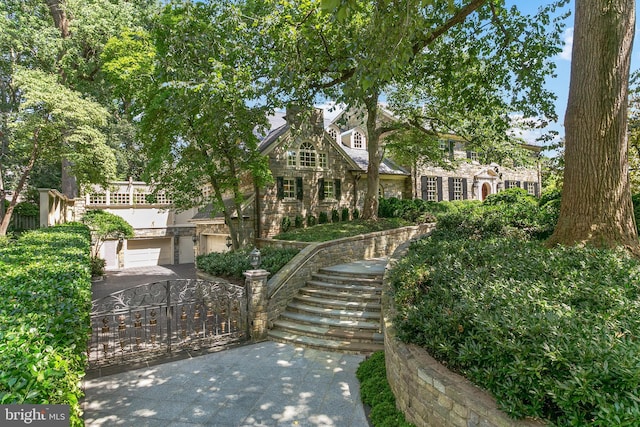
[(360, 363), (356, 370), (362, 402), (371, 407), (369, 417), (374, 427), (411, 427), (404, 414), (396, 409), (396, 398), (387, 382), (384, 352), (377, 351)]

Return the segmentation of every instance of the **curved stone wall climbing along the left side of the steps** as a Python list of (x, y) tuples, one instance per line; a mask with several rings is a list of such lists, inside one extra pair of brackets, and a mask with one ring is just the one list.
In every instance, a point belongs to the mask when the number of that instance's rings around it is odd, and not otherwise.
[[(402, 243), (430, 232), (434, 224), (402, 227), (359, 236), (345, 237), (330, 242), (307, 244), (282, 270), (268, 282), (269, 325), (282, 313), (298, 289), (311, 275), (323, 267), (349, 263), (362, 259), (390, 256)], [(278, 241), (261, 239), (263, 244), (285, 245)]]

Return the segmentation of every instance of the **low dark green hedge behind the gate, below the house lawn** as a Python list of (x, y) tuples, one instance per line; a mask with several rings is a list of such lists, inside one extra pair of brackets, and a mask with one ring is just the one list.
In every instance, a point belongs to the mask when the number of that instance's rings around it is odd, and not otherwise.
[[(244, 248), (233, 252), (211, 252), (200, 255), (196, 260), (200, 270), (214, 276), (233, 279), (234, 282), (244, 281), (244, 273), (252, 270), (249, 263), (249, 253), (252, 248)], [(295, 248), (277, 248), (266, 246), (260, 249), (262, 257), (261, 269), (267, 270), (271, 275), (276, 274), (291, 259), (300, 252)]]

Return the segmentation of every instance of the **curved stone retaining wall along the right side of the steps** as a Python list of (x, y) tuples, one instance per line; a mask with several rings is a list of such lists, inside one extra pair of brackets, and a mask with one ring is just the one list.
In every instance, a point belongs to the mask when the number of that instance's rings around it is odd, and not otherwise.
[[(387, 265), (407, 251), (401, 245)], [(409, 422), (429, 427), (542, 427), (537, 420), (513, 420), (500, 411), (495, 399), (461, 375), (438, 363), (422, 348), (402, 343), (396, 336), (390, 283), (385, 274), (382, 315), (387, 379), (396, 405)]]

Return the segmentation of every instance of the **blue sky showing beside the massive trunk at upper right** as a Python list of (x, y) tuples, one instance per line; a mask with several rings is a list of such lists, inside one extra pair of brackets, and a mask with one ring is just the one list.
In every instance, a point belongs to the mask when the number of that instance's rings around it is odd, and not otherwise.
[[(516, 5), (518, 9), (523, 11), (524, 13), (533, 14), (535, 13), (539, 7), (549, 4), (550, 0), (506, 0), (506, 4), (508, 6)], [(549, 78), (547, 81), (547, 88), (556, 94), (556, 114), (558, 116), (558, 121), (555, 123), (551, 123), (548, 126), (549, 130), (555, 130), (559, 132), (559, 136), (564, 136), (564, 114), (567, 109), (567, 99), (569, 95), (569, 80), (571, 73), (571, 46), (573, 43), (573, 14), (575, 11), (575, 2), (571, 0), (567, 6), (564, 7), (564, 10), (569, 10), (571, 12), (571, 16), (566, 19), (566, 28), (564, 33), (562, 34), (564, 40), (564, 48), (562, 52), (555, 56), (552, 60), (556, 64), (556, 74), (557, 77)], [(640, 47), (638, 44), (640, 43), (640, 39), (637, 34), (637, 25), (636, 25), (636, 38), (634, 40), (634, 49), (631, 56), (631, 71), (637, 70), (640, 68)], [(535, 138), (540, 134), (540, 132), (527, 132), (523, 134), (522, 137), (529, 142), (534, 142)]]

